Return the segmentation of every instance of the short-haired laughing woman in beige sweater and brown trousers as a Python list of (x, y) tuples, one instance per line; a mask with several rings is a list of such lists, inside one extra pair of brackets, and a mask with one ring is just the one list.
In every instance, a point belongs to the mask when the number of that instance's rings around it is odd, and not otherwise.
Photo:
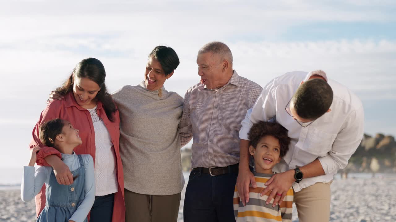
[[(177, 66), (176, 52), (159, 45), (148, 55), (143, 81), (112, 94), (121, 117), (126, 222), (176, 222), (179, 215), (180, 148), (192, 136), (179, 136), (183, 98), (164, 87)], [(55, 92), (51, 98), (61, 99)]]

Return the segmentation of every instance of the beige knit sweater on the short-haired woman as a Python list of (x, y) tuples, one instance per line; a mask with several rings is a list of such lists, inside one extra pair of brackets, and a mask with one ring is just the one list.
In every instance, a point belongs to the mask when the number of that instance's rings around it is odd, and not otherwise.
[(164, 87), (149, 91), (145, 82), (113, 93), (120, 112), (120, 154), (125, 188), (139, 194), (181, 192), (179, 122), (183, 98)]

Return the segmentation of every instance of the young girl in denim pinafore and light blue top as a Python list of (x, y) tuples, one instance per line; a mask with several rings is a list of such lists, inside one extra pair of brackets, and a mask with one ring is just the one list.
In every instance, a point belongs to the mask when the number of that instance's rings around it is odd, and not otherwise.
[(76, 155), (75, 147), (82, 144), (78, 130), (67, 120), (53, 119), (40, 126), (43, 145), (54, 147), (62, 155), (62, 161), (70, 168), (74, 182), (61, 185), (52, 167), (34, 169), (36, 152), (33, 148), (29, 166), (23, 167), (21, 198), (30, 201), (46, 184), (46, 206), (37, 218), (38, 222), (87, 222), (87, 215), (95, 200), (95, 174), (93, 158), (89, 154)]

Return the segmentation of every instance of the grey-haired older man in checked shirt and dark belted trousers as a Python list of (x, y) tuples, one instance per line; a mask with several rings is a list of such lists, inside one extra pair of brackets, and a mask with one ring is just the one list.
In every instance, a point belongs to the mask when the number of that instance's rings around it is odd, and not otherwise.
[(187, 90), (179, 125), (181, 137), (194, 139), (184, 221), (235, 221), (239, 130), (262, 88), (232, 69), (232, 53), (224, 43), (204, 45), (197, 64), (201, 82)]

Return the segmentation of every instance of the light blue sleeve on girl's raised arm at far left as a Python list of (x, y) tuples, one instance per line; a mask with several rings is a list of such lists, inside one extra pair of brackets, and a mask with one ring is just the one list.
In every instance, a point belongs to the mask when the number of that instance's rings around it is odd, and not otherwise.
[(40, 192), (51, 171), (51, 167), (38, 167), (37, 169), (33, 166), (23, 167), (23, 177), (21, 182), (22, 201), (28, 202), (34, 199), (34, 196)]

